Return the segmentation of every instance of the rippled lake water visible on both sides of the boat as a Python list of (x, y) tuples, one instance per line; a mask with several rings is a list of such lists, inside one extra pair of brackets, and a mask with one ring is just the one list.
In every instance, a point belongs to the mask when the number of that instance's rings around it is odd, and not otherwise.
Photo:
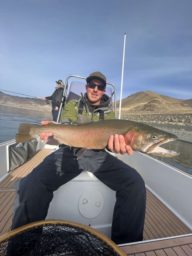
[[(0, 143), (14, 139), (20, 123), (40, 124), (43, 120), (52, 121), (51, 108), (50, 111), (38, 111), (0, 105)], [(176, 140), (163, 144), (162, 147), (180, 152), (180, 156), (155, 157), (156, 159), (192, 175), (192, 143)]]

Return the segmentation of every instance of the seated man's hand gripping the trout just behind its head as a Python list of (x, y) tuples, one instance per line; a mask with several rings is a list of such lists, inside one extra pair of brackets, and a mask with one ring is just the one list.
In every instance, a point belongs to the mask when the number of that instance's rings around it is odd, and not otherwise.
[(127, 153), (130, 156), (133, 155), (133, 150), (129, 145), (126, 145), (123, 135), (111, 135), (107, 147), (111, 152), (116, 154), (124, 155)]

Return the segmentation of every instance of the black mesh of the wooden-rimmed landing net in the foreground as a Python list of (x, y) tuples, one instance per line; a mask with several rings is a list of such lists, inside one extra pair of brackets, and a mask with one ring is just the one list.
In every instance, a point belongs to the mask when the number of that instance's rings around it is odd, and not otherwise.
[(0, 242), (0, 255), (118, 256), (91, 232), (69, 224), (43, 224), (23, 230)]

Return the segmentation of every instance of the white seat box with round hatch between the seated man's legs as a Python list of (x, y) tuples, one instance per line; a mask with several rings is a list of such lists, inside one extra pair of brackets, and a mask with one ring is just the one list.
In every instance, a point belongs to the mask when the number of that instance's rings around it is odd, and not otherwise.
[(83, 170), (54, 191), (46, 219), (79, 222), (110, 238), (115, 201), (115, 191), (91, 172)]

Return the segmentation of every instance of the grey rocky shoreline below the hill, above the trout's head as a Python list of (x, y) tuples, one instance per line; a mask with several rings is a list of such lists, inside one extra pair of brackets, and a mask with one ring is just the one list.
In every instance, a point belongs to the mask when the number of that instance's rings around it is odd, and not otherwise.
[(151, 125), (192, 143), (192, 114), (122, 114), (121, 119)]

